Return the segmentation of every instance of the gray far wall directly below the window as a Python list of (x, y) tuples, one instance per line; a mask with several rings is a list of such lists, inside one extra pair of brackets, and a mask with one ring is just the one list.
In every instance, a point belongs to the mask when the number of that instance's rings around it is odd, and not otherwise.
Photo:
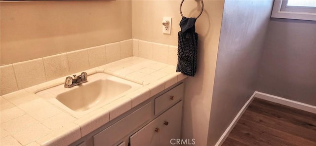
[(257, 90), (316, 106), (316, 21), (271, 19)]

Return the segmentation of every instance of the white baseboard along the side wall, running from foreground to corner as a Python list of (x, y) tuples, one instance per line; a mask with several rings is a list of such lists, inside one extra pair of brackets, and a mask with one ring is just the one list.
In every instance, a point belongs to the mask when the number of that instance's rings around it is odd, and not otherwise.
[(225, 130), (225, 132), (223, 133), (223, 135), (221, 136), (221, 138), (217, 141), (217, 143), (215, 144), (215, 146), (221, 146), (225, 139), (228, 137), (229, 133), (231, 133), (231, 131), (233, 130), (233, 128), (235, 127), (235, 125), (237, 124), (239, 118), (241, 117), (241, 115), (243, 114), (243, 112), (245, 112), (245, 110), (248, 108), (248, 106), (250, 105), (250, 103), (252, 102), (253, 98), (256, 95), (255, 91), (252, 96), (249, 98), (249, 100), (245, 103), (245, 105), (243, 105), (243, 107), (239, 110), (239, 112), (237, 113), (237, 115), (235, 116), (234, 120), (232, 121), (232, 123), (227, 127), (227, 129)]

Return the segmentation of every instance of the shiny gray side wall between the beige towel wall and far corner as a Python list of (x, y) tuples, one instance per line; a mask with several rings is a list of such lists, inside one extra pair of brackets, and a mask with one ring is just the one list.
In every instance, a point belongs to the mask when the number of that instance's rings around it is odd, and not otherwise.
[(208, 146), (214, 146), (256, 90), (273, 0), (225, 0)]

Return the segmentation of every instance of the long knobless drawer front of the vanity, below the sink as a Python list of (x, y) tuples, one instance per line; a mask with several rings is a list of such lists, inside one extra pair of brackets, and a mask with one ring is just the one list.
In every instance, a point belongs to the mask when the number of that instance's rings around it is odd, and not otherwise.
[(152, 103), (146, 104), (93, 136), (94, 146), (112, 146), (132, 130), (147, 122), (153, 113), (152, 105)]

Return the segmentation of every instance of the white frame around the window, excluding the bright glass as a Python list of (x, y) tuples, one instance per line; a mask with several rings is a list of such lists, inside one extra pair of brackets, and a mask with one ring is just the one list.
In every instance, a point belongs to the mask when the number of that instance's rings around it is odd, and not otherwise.
[(287, 0), (275, 0), (271, 18), (316, 21), (316, 7), (286, 6)]

